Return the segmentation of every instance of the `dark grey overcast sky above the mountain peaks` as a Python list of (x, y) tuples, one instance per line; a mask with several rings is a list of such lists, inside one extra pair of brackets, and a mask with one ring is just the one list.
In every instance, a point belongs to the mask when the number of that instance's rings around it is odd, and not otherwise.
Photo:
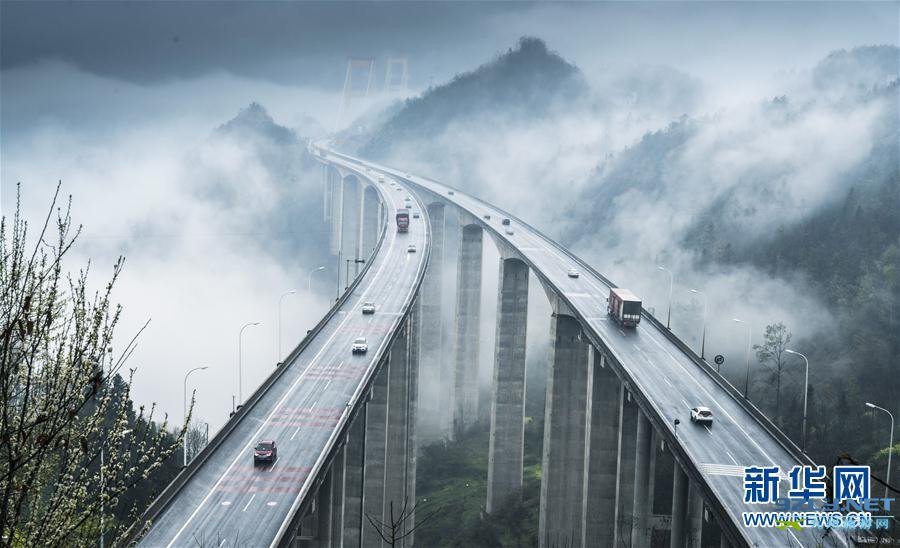
[(224, 70), (339, 89), (347, 56), (404, 56), (411, 84), (471, 68), (522, 34), (587, 70), (669, 64), (700, 77), (805, 67), (897, 43), (898, 4), (3, 2), (2, 69), (41, 59), (154, 83)]

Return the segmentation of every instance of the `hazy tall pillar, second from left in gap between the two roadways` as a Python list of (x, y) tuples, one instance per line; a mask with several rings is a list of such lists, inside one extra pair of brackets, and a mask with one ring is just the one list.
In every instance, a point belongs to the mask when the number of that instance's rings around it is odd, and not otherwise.
[(481, 253), (483, 231), (460, 228), (456, 276), (456, 368), (453, 431), (463, 432), (478, 420), (478, 346), (481, 322)]

